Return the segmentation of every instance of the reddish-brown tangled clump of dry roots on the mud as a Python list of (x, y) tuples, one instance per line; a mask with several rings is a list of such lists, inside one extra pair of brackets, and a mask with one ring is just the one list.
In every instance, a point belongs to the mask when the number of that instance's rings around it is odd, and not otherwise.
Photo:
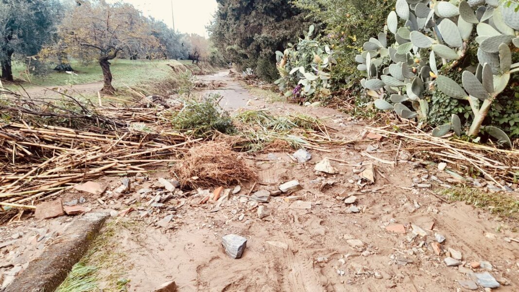
[(257, 174), (227, 143), (208, 142), (189, 149), (173, 172), (182, 187), (230, 186), (257, 180)]

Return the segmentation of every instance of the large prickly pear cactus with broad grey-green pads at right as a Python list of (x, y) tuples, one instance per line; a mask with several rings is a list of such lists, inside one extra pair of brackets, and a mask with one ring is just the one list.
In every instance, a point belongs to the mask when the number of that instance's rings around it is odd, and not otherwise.
[[(426, 120), (427, 100), (435, 87), (450, 98), (466, 100), (473, 115), (466, 134), (476, 136), (493, 101), (507, 88), (510, 74), (519, 72), (519, 63), (512, 64), (512, 50), (519, 47), (519, 4), (498, 0), (453, 3), (397, 0), (384, 32), (364, 43), (364, 51), (356, 57), (357, 68), (365, 72), (361, 84), (375, 99), (374, 105), (392, 109), (403, 118)], [(387, 44), (388, 31), (394, 35), (392, 46)], [(460, 69), (461, 87), (441, 72), (459, 67), (472, 41), (478, 46), (477, 60), (473, 60), (477, 62)], [(451, 130), (463, 133), (456, 115), (432, 134), (443, 136)], [(487, 126), (485, 132), (511, 145), (500, 129)]]

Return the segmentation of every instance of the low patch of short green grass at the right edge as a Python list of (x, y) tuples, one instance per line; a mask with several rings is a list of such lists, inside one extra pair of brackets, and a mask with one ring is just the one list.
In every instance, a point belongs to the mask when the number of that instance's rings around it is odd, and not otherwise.
[(466, 202), (501, 217), (519, 219), (519, 198), (510, 193), (487, 193), (470, 187), (455, 187), (445, 189), (441, 194), (449, 201)]

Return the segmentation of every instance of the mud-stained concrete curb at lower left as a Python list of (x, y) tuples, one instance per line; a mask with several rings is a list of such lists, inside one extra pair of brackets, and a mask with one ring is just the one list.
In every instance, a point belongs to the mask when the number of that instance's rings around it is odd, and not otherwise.
[(85, 255), (99, 234), (109, 214), (90, 213), (67, 227), (63, 237), (55, 240), (45, 251), (29, 263), (4, 292), (49, 292), (65, 280), (72, 266)]

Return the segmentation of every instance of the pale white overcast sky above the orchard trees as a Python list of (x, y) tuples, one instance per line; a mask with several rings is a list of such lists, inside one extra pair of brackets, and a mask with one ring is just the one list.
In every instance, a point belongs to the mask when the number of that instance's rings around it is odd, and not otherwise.
[[(164, 21), (173, 27), (171, 0), (123, 0), (141, 10), (145, 16)], [(115, 2), (115, 1), (113, 1)], [(208, 36), (206, 25), (213, 19), (216, 0), (173, 0), (175, 30)]]

